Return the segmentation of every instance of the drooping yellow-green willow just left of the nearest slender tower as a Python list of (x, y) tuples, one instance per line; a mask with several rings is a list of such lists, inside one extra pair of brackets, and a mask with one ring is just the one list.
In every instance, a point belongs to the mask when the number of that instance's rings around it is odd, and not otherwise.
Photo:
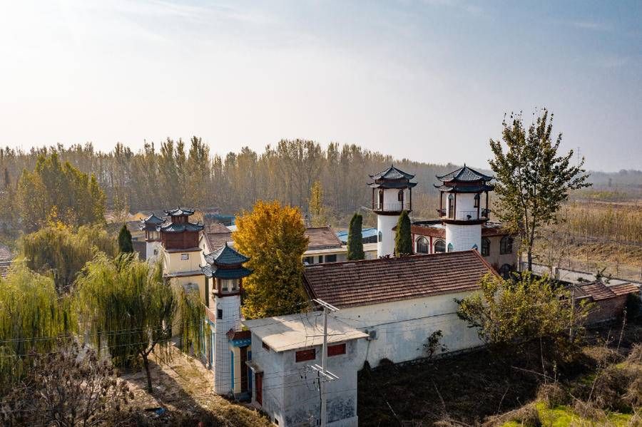
[(107, 350), (116, 366), (142, 363), (148, 389), (149, 356), (153, 352), (158, 361), (167, 361), (173, 332), (183, 337), (183, 350), (202, 351), (205, 312), (198, 292), (166, 284), (161, 263), (150, 266), (133, 254), (116, 260), (101, 254), (86, 264), (76, 286), (79, 314), (93, 346)]

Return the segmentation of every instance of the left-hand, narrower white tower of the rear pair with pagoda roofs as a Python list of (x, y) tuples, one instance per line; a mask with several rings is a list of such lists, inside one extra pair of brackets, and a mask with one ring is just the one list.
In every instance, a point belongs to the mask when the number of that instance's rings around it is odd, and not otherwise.
[(391, 165), (386, 170), (370, 175), (372, 187), (372, 210), (377, 214), (377, 256), (384, 257), (394, 253), (394, 235), (399, 214), (403, 210), (412, 211), (412, 187), (414, 175), (405, 173)]

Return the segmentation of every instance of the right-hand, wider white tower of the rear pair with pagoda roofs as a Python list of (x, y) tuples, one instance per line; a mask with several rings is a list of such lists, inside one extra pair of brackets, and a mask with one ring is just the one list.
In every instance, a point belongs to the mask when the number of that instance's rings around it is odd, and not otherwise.
[[(446, 229), (447, 252), (479, 250), (481, 225), (489, 220), (488, 192), (494, 190), (494, 185), (488, 182), (493, 177), (464, 165), (451, 173), (437, 176), (437, 179), (442, 181), (441, 185), (435, 187), (439, 190), (439, 216)], [(481, 207), (482, 202), (486, 207)]]

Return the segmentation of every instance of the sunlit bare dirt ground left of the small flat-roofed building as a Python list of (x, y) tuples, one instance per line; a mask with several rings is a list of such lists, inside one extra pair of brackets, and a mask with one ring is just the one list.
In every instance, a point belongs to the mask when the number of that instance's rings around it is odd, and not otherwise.
[(147, 412), (154, 424), (173, 426), (270, 426), (258, 411), (233, 403), (213, 393), (212, 372), (190, 356), (173, 350), (167, 364), (151, 364), (153, 392), (146, 391), (147, 378), (141, 370), (121, 378), (133, 390), (137, 408), (165, 408), (162, 416)]

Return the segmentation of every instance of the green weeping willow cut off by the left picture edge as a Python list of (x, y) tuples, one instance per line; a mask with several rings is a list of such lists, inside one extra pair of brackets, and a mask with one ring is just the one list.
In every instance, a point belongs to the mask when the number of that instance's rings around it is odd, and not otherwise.
[(0, 393), (75, 328), (68, 297), (58, 298), (54, 281), (16, 262), (0, 279)]

